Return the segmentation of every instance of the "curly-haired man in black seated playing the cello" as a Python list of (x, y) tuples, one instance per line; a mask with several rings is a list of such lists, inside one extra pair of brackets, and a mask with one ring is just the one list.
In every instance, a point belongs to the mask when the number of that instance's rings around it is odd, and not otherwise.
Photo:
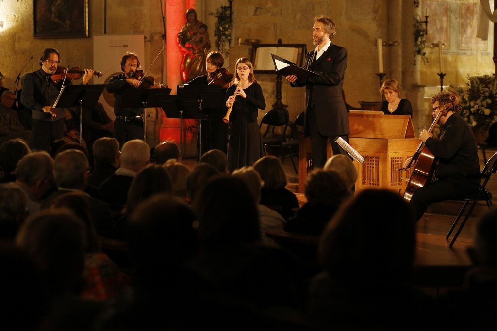
[[(468, 123), (459, 115), (461, 105), (451, 103), (451, 93), (442, 91), (431, 98), (433, 117), (442, 110), (439, 124), (443, 132), (439, 139), (426, 130), (420, 132), (419, 140), (425, 142), (436, 157), (435, 172), (431, 182), (414, 192), (410, 205), (414, 217), (419, 220), (427, 207), (433, 202), (461, 199), (477, 194), (480, 184), (480, 162), (477, 143)], [(445, 113), (446, 111), (446, 113)]]

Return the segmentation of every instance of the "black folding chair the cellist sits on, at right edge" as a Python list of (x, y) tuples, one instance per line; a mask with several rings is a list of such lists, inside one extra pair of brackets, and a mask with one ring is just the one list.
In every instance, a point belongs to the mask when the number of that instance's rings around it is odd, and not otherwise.
[(449, 239), (450, 235), (452, 234), (452, 231), (454, 231), (454, 228), (456, 227), (457, 223), (459, 222), (459, 219), (463, 215), (463, 213), (466, 210), (466, 207), (468, 206), (469, 203), (471, 203), (471, 206), (470, 206), (468, 212), (466, 213), (466, 216), (464, 217), (463, 221), (459, 225), (459, 228), (457, 229), (456, 234), (454, 235), (454, 238), (452, 238), (452, 241), (450, 242), (449, 247), (452, 247), (452, 245), (454, 245), (457, 237), (461, 233), (461, 230), (463, 229), (464, 225), (466, 224), (466, 221), (468, 220), (469, 216), (471, 215), (471, 212), (475, 208), (478, 201), (485, 201), (487, 203), (487, 206), (489, 208), (492, 208), (492, 194), (490, 192), (488, 192), (485, 189), (485, 187), (487, 186), (487, 183), (489, 182), (492, 174), (496, 173), (496, 170), (497, 170), (497, 153), (492, 155), (492, 157), (490, 158), (490, 160), (487, 161), (487, 163), (485, 164), (485, 167), (482, 170), (482, 178), (484, 180), (483, 180), (483, 183), (480, 185), (480, 190), (478, 191), (478, 194), (474, 197), (471, 197), (471, 198), (461, 199), (461, 200), (464, 200), (464, 205), (461, 208), (461, 210), (459, 211), (459, 214), (457, 214), (457, 217), (454, 220), (454, 223), (452, 224), (452, 226), (450, 227), (449, 232), (445, 236), (445, 239)]

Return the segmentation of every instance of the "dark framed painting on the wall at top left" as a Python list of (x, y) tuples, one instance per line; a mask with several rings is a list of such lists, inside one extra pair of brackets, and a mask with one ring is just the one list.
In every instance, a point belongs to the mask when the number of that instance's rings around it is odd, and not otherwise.
[(33, 0), (33, 38), (87, 38), (88, 0)]

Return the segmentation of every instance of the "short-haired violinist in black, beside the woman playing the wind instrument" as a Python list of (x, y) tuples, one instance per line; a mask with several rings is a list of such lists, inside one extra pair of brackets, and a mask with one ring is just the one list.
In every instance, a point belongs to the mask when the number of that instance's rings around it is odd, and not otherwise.
[[(223, 68), (224, 58), (219, 52), (210, 52), (205, 60), (207, 74), (197, 76), (189, 81), (189, 85), (219, 85), (223, 88), (223, 101), (226, 88), (233, 84), (233, 74)], [(202, 120), (202, 150), (198, 155), (203, 155), (211, 149), (220, 149), (228, 152), (227, 130), (228, 125), (223, 122), (226, 115), (226, 107), (220, 108), (203, 108), (202, 111), (207, 115), (206, 120)], [(197, 150), (200, 149), (197, 139)]]

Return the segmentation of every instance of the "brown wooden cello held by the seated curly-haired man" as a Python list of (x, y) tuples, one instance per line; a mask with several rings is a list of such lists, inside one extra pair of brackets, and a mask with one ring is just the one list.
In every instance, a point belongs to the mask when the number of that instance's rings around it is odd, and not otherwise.
[[(460, 97), (456, 93), (452, 93), (449, 98), (451, 102), (438, 106), (438, 113), (433, 120), (433, 123), (431, 123), (431, 126), (427, 130), (428, 133), (433, 132), (433, 129), (442, 115), (447, 115), (447, 112), (451, 108), (459, 104)], [(426, 143), (424, 141), (421, 141), (414, 155), (406, 161), (404, 167), (399, 169), (399, 171), (411, 169), (414, 161), (416, 163), (403, 197), (407, 202), (411, 201), (411, 198), (417, 190), (431, 181), (435, 172), (435, 155), (433, 155), (433, 153), (426, 147)]]

